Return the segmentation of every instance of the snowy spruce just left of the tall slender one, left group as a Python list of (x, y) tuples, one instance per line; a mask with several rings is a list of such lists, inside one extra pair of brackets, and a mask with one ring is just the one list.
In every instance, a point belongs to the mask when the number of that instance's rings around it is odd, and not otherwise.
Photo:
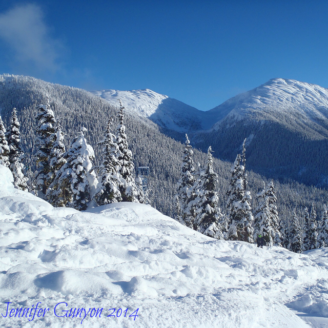
[(124, 186), (124, 181), (119, 173), (121, 163), (117, 159), (119, 150), (116, 136), (110, 131), (112, 122), (111, 117), (107, 124), (105, 139), (100, 142), (103, 146), (104, 159), (99, 168), (99, 181), (94, 196), (98, 205), (122, 201), (119, 189)]

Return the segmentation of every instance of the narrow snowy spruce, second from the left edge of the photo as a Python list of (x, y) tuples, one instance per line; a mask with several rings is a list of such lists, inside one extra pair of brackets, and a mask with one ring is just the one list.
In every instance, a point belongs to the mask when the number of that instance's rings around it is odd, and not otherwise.
[(12, 172), (14, 187), (24, 191), (28, 191), (28, 177), (25, 172), (23, 163), (24, 153), (20, 148), (20, 132), (19, 121), (17, 119), (16, 108), (12, 110), (11, 125), (8, 131), (8, 146), (9, 146), (9, 163), (10, 171)]

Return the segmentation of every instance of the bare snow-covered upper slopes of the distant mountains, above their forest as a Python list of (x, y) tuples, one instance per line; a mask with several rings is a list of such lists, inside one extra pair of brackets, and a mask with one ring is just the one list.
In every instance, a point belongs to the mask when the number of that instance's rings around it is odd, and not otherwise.
[(328, 118), (328, 89), (284, 78), (273, 78), (206, 112), (149, 89), (92, 93), (116, 105), (117, 99), (121, 99), (128, 111), (179, 132), (218, 128), (225, 117), (240, 119), (249, 113), (259, 113), (263, 108), (270, 109), (272, 120), (278, 119), (275, 113), (288, 113), (300, 121), (311, 120), (319, 124)]

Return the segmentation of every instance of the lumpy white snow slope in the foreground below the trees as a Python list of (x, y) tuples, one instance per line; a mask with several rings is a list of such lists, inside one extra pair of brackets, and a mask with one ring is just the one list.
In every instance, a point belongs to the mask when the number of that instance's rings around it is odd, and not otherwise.
[(214, 240), (142, 204), (56, 209), (11, 180), (0, 166), (1, 326), (301, 328), (291, 308), (328, 316), (327, 249)]

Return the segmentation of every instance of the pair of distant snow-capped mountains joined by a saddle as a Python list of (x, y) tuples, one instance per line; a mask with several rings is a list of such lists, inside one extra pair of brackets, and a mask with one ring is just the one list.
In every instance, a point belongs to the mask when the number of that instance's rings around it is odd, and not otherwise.
[(280, 180), (328, 187), (328, 89), (274, 78), (202, 112), (151, 90), (93, 92), (121, 98), (133, 113), (152, 120), (178, 140), (190, 135), (203, 151), (233, 161), (247, 140), (248, 167)]

